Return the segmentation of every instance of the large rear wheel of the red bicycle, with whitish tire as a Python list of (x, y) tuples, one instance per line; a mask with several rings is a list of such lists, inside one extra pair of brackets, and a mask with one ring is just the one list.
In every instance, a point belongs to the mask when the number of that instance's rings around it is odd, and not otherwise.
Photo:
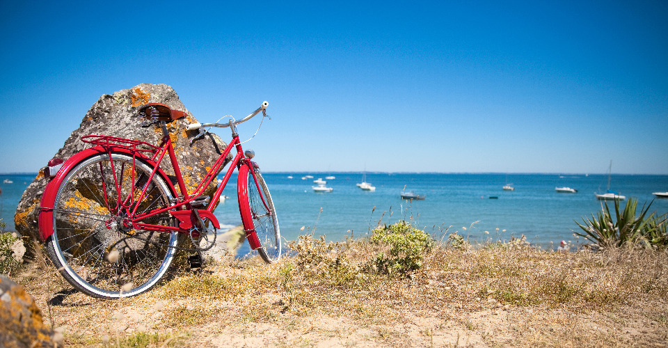
[[(132, 192), (138, 196), (152, 171), (131, 154), (111, 152), (110, 160), (109, 153), (101, 153), (79, 161), (58, 187), (47, 255), (77, 290), (104, 299), (136, 296), (166, 275), (177, 233), (122, 226), (123, 215), (132, 209), (128, 205), (140, 213), (171, 204), (174, 193), (158, 173), (141, 202), (125, 201)], [(175, 226), (168, 212), (142, 222)]]

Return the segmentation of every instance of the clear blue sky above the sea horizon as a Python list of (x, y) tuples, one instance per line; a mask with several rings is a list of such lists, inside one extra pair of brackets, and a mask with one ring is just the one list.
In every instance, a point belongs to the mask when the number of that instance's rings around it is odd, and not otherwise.
[(264, 171), (668, 174), (668, 1), (0, 1), (0, 17), (0, 173), (38, 171), (100, 95), (150, 83), (202, 122), (269, 101), (246, 145)]

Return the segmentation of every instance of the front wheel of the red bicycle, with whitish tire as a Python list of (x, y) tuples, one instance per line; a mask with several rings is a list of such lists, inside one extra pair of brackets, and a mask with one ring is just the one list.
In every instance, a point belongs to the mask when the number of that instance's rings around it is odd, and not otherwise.
[[(253, 175), (253, 172), (255, 175)], [(257, 179), (257, 184), (255, 182)], [(261, 247), (257, 248), (257, 253), (264, 262), (272, 263), (280, 259), (281, 256), (281, 241), (280, 229), (278, 228), (278, 218), (276, 216), (276, 209), (273, 206), (273, 200), (269, 193), (267, 183), (264, 182), (262, 174), (258, 169), (249, 169), (247, 175), (246, 189), (248, 200), (241, 202), (241, 209), (250, 209), (250, 216), (253, 221), (244, 221), (244, 226), (252, 226), (257, 234), (257, 239), (260, 240)], [(258, 191), (258, 187), (262, 190), (262, 194)], [(263, 200), (264, 198), (264, 200)], [(244, 198), (240, 198), (244, 199)], [(268, 209), (267, 209), (268, 208)], [(244, 219), (244, 214), (241, 214)]]

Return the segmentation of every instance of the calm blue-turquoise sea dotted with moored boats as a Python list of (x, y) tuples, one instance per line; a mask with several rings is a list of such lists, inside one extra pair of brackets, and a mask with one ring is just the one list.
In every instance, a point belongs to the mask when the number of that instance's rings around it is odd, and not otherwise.
[[(5, 230), (14, 229), (14, 214), (23, 191), (35, 173), (0, 174), (0, 218)], [(576, 221), (600, 212), (595, 193), (607, 189), (607, 174), (506, 174), (506, 173), (365, 173), (376, 187), (363, 191), (356, 184), (363, 173), (262, 173), (278, 213), (284, 242), (299, 235), (324, 235), (327, 240), (363, 237), (385, 223), (399, 220), (447, 239), (457, 232), (473, 243), (508, 241), (512, 237), (543, 248), (556, 248), (562, 240), (583, 244)], [(219, 176), (222, 179), (223, 175)], [(326, 179), (326, 177), (334, 177)], [(313, 181), (326, 180), (328, 193), (316, 193)], [(241, 223), (236, 179), (223, 191), (227, 196), (216, 208), (221, 230)], [(514, 191), (502, 187), (511, 184)], [(612, 175), (611, 189), (637, 198), (639, 207), (668, 213), (668, 199), (653, 192), (668, 191), (668, 175)], [(571, 187), (577, 193), (557, 193), (555, 187)], [(404, 200), (401, 193), (424, 195), (424, 200)], [(613, 203), (610, 202), (611, 208)], [(625, 204), (625, 203), (622, 203)]]

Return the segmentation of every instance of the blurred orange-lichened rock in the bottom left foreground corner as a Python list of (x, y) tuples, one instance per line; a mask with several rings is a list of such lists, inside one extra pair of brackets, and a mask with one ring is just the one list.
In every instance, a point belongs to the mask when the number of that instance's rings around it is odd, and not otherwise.
[[(61, 341), (61, 340), (56, 340)], [(0, 347), (61, 347), (32, 296), (0, 274)]]

